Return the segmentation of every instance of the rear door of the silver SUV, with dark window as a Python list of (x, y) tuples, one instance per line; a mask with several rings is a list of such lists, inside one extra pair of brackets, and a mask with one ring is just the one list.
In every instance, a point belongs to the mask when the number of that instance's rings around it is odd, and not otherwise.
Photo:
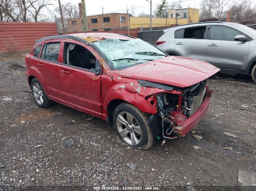
[(175, 51), (181, 56), (205, 61), (207, 26), (186, 27), (175, 31)]

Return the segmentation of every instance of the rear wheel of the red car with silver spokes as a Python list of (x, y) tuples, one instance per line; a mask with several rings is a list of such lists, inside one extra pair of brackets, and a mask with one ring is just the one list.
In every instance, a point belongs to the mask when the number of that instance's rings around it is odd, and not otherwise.
[(36, 78), (32, 79), (30, 88), (31, 88), (35, 103), (39, 107), (46, 108), (46, 107), (52, 106), (52, 100), (50, 100), (48, 96), (45, 94), (45, 90), (43, 86), (40, 84), (40, 82)]

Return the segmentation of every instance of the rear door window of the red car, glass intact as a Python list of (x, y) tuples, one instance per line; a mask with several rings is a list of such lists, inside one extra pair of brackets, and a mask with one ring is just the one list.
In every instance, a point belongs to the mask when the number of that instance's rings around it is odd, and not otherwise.
[(58, 62), (60, 43), (45, 43), (41, 58), (49, 61)]

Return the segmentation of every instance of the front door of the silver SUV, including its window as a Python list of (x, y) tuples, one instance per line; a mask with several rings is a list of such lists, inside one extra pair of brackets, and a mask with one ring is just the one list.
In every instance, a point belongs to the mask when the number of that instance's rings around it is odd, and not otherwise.
[(218, 68), (244, 70), (249, 42), (235, 41), (234, 37), (237, 35), (246, 36), (231, 27), (211, 25), (208, 31), (206, 62)]

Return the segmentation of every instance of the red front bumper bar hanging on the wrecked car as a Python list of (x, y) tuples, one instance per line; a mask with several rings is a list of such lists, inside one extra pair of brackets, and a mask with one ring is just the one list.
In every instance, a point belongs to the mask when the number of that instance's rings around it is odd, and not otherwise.
[(206, 89), (205, 95), (206, 97), (204, 98), (203, 103), (201, 106), (196, 110), (193, 115), (191, 115), (188, 119), (186, 119), (183, 123), (179, 123), (178, 126), (175, 126), (173, 131), (175, 132), (176, 135), (178, 136), (184, 136), (188, 132), (191, 131), (194, 127), (197, 126), (197, 124), (203, 119), (204, 115), (206, 114), (210, 100), (211, 100), (211, 94), (212, 90)]

